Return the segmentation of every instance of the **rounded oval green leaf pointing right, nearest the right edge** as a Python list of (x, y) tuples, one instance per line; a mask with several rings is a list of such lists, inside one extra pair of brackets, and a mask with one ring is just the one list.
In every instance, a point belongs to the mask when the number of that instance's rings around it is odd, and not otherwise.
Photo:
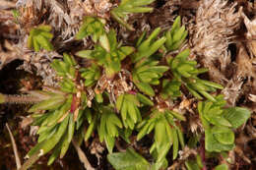
[(238, 128), (250, 117), (250, 111), (241, 107), (230, 107), (224, 109), (224, 118), (230, 122), (233, 128)]

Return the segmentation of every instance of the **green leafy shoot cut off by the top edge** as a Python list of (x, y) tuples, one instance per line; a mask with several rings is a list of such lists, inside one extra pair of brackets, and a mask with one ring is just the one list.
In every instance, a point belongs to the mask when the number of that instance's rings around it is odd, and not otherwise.
[(127, 18), (127, 14), (152, 12), (153, 8), (144, 6), (149, 5), (154, 1), (155, 0), (122, 0), (118, 7), (111, 10), (110, 14), (113, 19), (115, 19), (125, 28), (128, 28), (129, 30), (134, 30), (132, 26), (128, 25), (124, 21)]

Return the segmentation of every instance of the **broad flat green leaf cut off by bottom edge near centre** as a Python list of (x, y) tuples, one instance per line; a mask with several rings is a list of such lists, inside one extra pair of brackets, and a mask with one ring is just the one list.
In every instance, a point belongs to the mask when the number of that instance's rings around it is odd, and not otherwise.
[(132, 148), (125, 152), (110, 153), (107, 160), (116, 170), (148, 170), (150, 163)]

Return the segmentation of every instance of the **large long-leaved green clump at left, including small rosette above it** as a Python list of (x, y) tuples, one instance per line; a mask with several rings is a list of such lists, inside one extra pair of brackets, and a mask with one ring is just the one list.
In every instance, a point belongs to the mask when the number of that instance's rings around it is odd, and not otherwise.
[[(28, 156), (38, 157), (53, 149), (48, 165), (60, 156), (65, 155), (74, 136), (75, 127), (79, 128), (81, 114), (86, 106), (87, 96), (77, 83), (76, 61), (64, 54), (64, 61), (54, 60), (52, 67), (63, 79), (60, 89), (49, 88), (43, 91), (32, 91), (34, 97), (43, 98), (34, 104), (29, 112), (33, 112), (33, 125), (39, 126), (38, 143), (28, 153)], [(47, 111), (41, 114), (41, 111)]]

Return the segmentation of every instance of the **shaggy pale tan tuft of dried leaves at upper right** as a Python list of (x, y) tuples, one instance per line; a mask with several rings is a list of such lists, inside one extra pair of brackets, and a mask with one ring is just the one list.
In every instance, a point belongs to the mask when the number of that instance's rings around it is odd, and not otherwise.
[[(236, 3), (228, 4), (223, 0), (200, 1), (193, 28), (192, 51), (201, 56), (211, 77), (219, 83), (225, 80), (225, 68), (230, 63), (227, 47), (234, 29), (240, 24), (242, 9), (235, 12), (235, 7)], [(215, 65), (216, 61), (219, 61), (220, 68)]]

